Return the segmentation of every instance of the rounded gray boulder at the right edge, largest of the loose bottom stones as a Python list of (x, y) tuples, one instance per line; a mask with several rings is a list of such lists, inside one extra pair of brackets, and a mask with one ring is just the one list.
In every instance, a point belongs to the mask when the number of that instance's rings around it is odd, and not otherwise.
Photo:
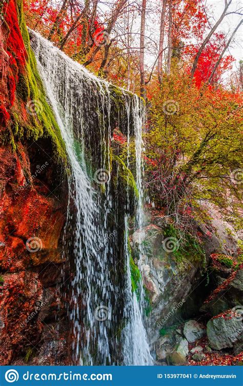
[(207, 324), (209, 344), (215, 350), (233, 347), (242, 332), (242, 316), (231, 310), (224, 317), (210, 319)]

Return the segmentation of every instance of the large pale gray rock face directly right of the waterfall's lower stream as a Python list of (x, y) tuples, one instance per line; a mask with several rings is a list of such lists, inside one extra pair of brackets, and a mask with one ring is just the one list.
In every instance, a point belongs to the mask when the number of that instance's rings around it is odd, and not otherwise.
[(134, 256), (139, 238), (143, 244), (140, 269), (152, 300), (150, 328), (154, 343), (159, 339), (159, 330), (173, 325), (180, 317), (188, 294), (201, 277), (198, 269), (200, 261), (185, 258), (183, 262), (177, 262), (174, 254), (164, 249), (163, 228), (155, 224), (144, 227), (143, 232), (133, 233), (131, 247)]

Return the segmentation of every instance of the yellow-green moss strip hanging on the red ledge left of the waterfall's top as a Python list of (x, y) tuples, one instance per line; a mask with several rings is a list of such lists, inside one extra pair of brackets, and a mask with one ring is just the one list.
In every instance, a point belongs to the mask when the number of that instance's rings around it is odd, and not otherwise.
[[(53, 146), (53, 153), (57, 161), (66, 160), (65, 143), (60, 134), (51, 107), (47, 103), (45, 89), (39, 77), (34, 53), (30, 47), (28, 30), (23, 16), (23, 2), (17, 0), (17, 13), (19, 28), (21, 30), (25, 47), (28, 53), (26, 73), (19, 73), (16, 88), (18, 106), (21, 109), (28, 108), (31, 104), (31, 113), (23, 118), (21, 111), (13, 111), (13, 126), (10, 133), (10, 142), (15, 149), (14, 140), (49, 137)], [(32, 107), (33, 106), (33, 107)], [(28, 112), (28, 109), (27, 109)]]

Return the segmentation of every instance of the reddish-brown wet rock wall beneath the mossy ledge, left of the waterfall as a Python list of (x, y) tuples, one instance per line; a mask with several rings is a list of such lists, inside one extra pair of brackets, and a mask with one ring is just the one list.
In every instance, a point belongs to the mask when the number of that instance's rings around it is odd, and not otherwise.
[(60, 252), (67, 196), (63, 192), (63, 198), (57, 199), (57, 190), (55, 196), (50, 194), (59, 177), (57, 166), (53, 167), (50, 157), (46, 164), (47, 155), (40, 149), (47, 153), (50, 149), (51, 154), (51, 141), (43, 141), (40, 146), (18, 142), (16, 152), (8, 144), (0, 148), (0, 309), (4, 310), (0, 362), (6, 365), (15, 357), (25, 357), (30, 341), (36, 346), (42, 339), (40, 311), (48, 321), (55, 318), (57, 309), (53, 298), (44, 311), (43, 292), (62, 277), (58, 267), (63, 267)]

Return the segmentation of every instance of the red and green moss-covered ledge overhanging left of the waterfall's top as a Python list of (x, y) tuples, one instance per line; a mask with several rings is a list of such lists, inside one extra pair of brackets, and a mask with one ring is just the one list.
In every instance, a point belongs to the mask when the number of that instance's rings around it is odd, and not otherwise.
[[(8, 55), (5, 98), (2, 100), (7, 130), (3, 141), (13, 150), (21, 140), (50, 138), (56, 161), (66, 160), (65, 144), (54, 114), (47, 102), (23, 15), (23, 1), (9, 0), (3, 7), (2, 34)], [(9, 103), (9, 101), (12, 101)]]

